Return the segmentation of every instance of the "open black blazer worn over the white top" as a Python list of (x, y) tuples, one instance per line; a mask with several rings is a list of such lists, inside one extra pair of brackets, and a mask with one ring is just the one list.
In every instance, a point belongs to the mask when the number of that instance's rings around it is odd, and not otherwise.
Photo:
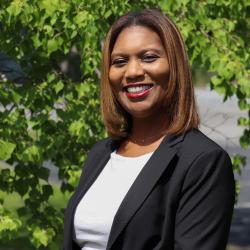
[[(65, 250), (80, 249), (72, 240), (76, 206), (117, 143), (104, 139), (88, 155), (65, 211)], [(107, 249), (225, 249), (234, 198), (231, 161), (221, 147), (196, 129), (167, 136), (120, 205)]]

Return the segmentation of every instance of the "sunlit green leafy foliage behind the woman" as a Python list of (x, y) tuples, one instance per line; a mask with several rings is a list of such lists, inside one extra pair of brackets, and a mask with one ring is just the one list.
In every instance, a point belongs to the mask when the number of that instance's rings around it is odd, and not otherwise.
[[(50, 198), (54, 188), (45, 161), (58, 169), (62, 192), (76, 186), (86, 153), (105, 136), (99, 112), (101, 44), (111, 23), (129, 10), (159, 7), (180, 27), (193, 65), (213, 73), (210, 86), (224, 100), (236, 95), (249, 110), (249, 0), (3, 0), (0, 51), (29, 76), (23, 85), (0, 84), (0, 189), (23, 200), (17, 215), (0, 208), (0, 237), (25, 232), (35, 248), (53, 247), (63, 213)], [(81, 80), (60, 67), (75, 47)], [(241, 146), (250, 144), (250, 112), (239, 118)], [(244, 164), (234, 158), (235, 171)], [(28, 226), (27, 226), (28, 225)], [(59, 243), (58, 243), (59, 244)]]

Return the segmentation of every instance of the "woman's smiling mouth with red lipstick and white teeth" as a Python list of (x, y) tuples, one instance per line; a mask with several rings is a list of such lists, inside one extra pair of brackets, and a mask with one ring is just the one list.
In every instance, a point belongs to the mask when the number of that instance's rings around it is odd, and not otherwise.
[(124, 90), (129, 98), (139, 98), (148, 95), (152, 87), (153, 84), (131, 84), (124, 87)]

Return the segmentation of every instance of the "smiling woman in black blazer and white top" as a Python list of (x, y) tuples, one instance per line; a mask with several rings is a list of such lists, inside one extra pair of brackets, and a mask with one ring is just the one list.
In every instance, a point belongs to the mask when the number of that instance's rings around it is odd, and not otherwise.
[(94, 145), (65, 212), (64, 249), (225, 249), (234, 204), (227, 153), (198, 129), (188, 59), (156, 10), (111, 27)]

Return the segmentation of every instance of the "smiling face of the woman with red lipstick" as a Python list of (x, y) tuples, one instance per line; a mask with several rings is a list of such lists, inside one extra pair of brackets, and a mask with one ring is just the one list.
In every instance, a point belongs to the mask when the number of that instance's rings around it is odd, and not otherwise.
[(143, 26), (125, 28), (111, 53), (109, 80), (133, 118), (162, 115), (169, 64), (159, 35)]

